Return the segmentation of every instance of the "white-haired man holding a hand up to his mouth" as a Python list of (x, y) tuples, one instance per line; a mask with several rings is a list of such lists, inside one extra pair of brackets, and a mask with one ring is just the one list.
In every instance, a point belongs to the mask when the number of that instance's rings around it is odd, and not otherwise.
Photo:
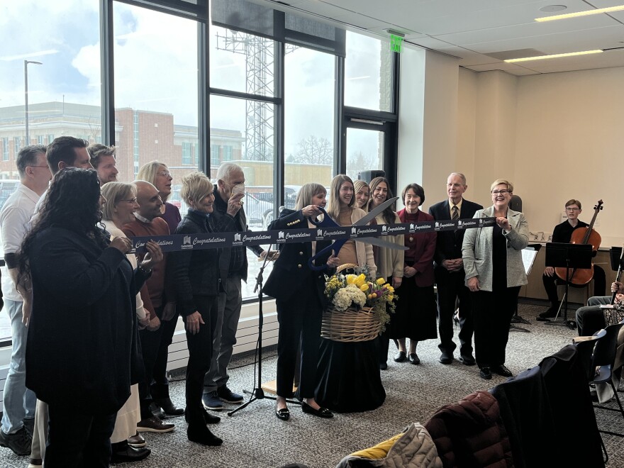
[[(243, 168), (233, 162), (224, 162), (217, 171), (215, 185), (214, 211), (212, 213), (213, 228), (222, 232), (221, 220), (225, 216), (233, 217), (238, 231), (249, 230), (247, 217), (240, 209), (228, 213), (228, 200), (232, 196), (245, 193), (245, 174)], [(259, 245), (250, 247), (258, 257), (266, 255)], [(202, 401), (207, 409), (221, 411), (225, 403), (241, 403), (243, 395), (228, 389), (228, 365), (236, 344), (236, 330), (240, 318), (240, 307), (243, 303), (241, 293), (242, 281), (247, 282), (247, 250), (243, 246), (224, 249), (219, 257), (221, 271), (221, 288), (219, 293), (216, 328), (213, 337), (213, 352), (210, 370), (204, 378), (204, 396)]]

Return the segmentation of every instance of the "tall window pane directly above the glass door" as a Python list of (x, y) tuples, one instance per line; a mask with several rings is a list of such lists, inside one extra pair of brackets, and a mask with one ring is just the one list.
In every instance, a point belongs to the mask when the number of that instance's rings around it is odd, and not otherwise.
[(347, 31), (345, 106), (392, 109), (392, 52), (388, 42)]

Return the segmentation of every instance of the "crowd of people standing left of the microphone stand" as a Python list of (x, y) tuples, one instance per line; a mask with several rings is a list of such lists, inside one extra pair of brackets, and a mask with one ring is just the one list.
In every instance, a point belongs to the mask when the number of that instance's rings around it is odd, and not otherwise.
[[(167, 201), (162, 162), (118, 182), (115, 147), (62, 136), (22, 148), (21, 184), (0, 212), (9, 275), (2, 278), (13, 353), (0, 446), (30, 467), (108, 467), (150, 455), (140, 433), (186, 419), (189, 440), (221, 445), (206, 408), (240, 403), (228, 386), (247, 276), (245, 249), (162, 252), (131, 238), (247, 230), (245, 176), (233, 163), (217, 184), (182, 177), (184, 217)], [(266, 255), (255, 247), (258, 255)], [(189, 362), (185, 408), (169, 397), (168, 348), (179, 316)]]

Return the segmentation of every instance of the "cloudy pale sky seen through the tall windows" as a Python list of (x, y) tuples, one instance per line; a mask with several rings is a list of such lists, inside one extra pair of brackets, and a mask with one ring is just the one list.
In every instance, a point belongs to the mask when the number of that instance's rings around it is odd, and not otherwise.
[[(175, 123), (196, 126), (196, 23), (121, 3), (113, 17), (116, 107), (168, 112)], [(23, 60), (43, 62), (28, 65), (30, 104), (100, 105), (99, 42), (97, 0), (1, 0), (0, 106), (23, 105)], [(347, 43), (347, 104), (377, 108), (381, 43), (355, 34)], [(286, 55), (286, 155), (310, 135), (333, 140), (334, 69), (334, 57), (321, 52), (299, 48)], [(213, 87), (245, 91), (245, 74), (245, 55), (212, 48)], [(213, 99), (211, 106), (211, 126), (245, 130), (240, 101)], [(374, 153), (377, 140), (351, 147)]]

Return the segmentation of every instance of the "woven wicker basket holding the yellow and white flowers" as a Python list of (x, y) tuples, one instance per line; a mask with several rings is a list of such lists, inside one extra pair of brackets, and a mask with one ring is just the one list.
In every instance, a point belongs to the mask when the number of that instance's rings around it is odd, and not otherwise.
[(377, 338), (381, 331), (381, 322), (372, 307), (363, 307), (359, 311), (347, 308), (337, 311), (328, 308), (321, 321), (321, 338), (341, 342), (370, 341)]

